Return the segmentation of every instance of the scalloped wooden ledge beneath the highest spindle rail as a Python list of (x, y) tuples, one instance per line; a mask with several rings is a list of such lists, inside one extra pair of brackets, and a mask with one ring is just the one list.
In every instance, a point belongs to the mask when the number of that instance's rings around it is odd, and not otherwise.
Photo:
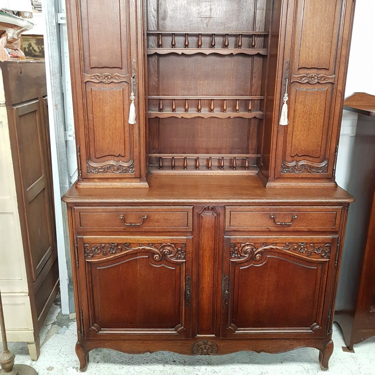
[(237, 55), (239, 53), (243, 53), (246, 55), (264, 55), (267, 56), (267, 49), (257, 49), (257, 48), (147, 48), (147, 54), (152, 55), (157, 53), (159, 55), (165, 55), (169, 53), (177, 53), (179, 55), (193, 55), (196, 53), (203, 53), (205, 55), (209, 55), (212, 53), (220, 54), (220, 55)]

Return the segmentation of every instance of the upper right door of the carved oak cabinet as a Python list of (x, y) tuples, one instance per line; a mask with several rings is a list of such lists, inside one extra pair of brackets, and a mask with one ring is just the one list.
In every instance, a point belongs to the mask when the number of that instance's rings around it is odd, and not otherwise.
[[(293, 3), (293, 1), (291, 2)], [(353, 1), (296, 0), (289, 9), (276, 177), (334, 177)]]

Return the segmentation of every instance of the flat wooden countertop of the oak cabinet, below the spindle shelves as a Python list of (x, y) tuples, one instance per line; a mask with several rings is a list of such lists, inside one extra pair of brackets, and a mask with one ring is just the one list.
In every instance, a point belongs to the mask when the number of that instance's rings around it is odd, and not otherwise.
[(341, 187), (264, 187), (257, 176), (154, 175), (149, 187), (82, 187), (74, 184), (63, 201), (76, 204), (126, 203), (292, 203), (339, 204), (354, 201)]

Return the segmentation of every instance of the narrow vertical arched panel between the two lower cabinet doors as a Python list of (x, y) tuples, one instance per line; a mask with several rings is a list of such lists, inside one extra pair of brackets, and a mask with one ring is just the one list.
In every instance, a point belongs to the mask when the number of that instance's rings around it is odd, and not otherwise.
[(198, 213), (196, 249), (196, 335), (215, 336), (219, 212), (203, 207)]

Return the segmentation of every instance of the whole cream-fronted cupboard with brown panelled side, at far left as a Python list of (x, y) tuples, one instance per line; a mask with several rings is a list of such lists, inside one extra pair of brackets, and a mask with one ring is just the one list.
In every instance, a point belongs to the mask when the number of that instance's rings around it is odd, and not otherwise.
[(59, 287), (46, 106), (44, 62), (0, 62), (0, 290), (7, 339), (32, 360)]

